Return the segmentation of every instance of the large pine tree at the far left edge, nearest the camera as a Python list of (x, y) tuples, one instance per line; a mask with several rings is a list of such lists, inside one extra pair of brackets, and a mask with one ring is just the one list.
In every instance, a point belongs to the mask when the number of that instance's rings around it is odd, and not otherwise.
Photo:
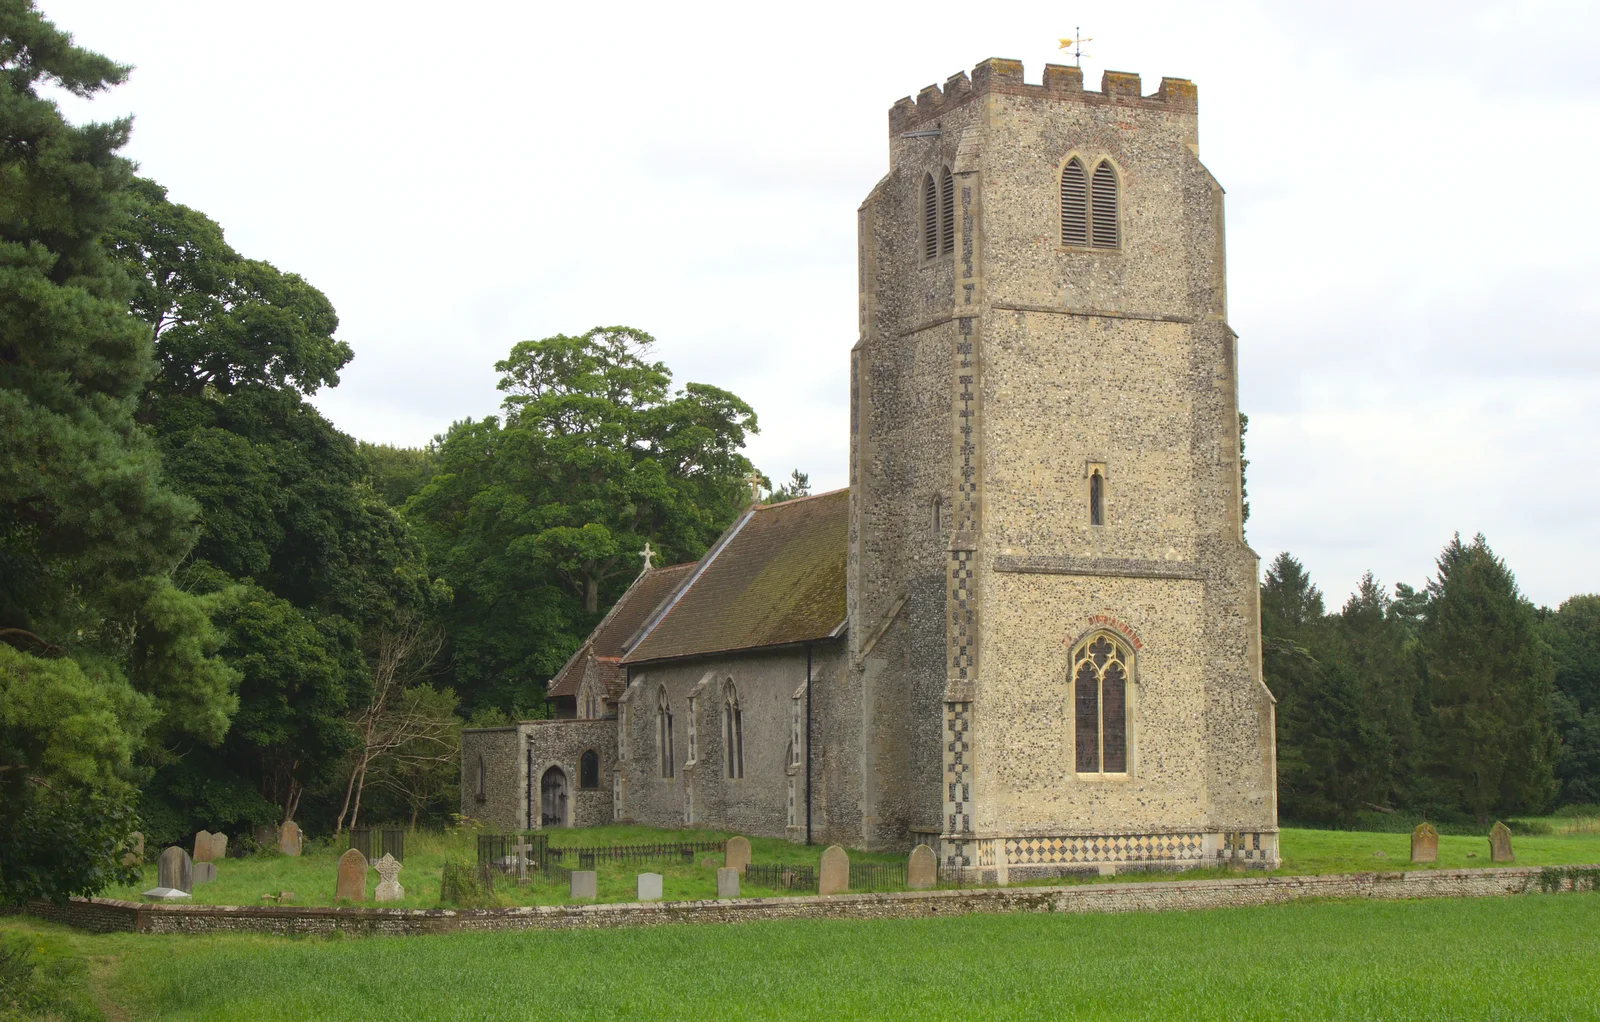
[[(42, 88), (94, 96), (126, 67), (72, 45), (29, 0), (0, 5), (0, 897), (66, 897), (115, 875), (136, 760), (214, 742), (235, 675), (211, 603), (171, 571), (192, 502), (134, 409), (150, 331), (107, 259), (131, 181), (126, 120), (69, 125)], [(85, 844), (32, 857), (40, 820)], [(115, 833), (123, 830), (123, 833)]]

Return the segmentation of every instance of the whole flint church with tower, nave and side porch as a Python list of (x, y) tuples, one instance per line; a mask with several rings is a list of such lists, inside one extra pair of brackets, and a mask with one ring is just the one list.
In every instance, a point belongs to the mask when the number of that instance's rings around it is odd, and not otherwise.
[(1011, 878), (1278, 864), (1222, 187), (1198, 96), (989, 59), (856, 211), (850, 486), (651, 566), (462, 734), (462, 812), (910, 849)]

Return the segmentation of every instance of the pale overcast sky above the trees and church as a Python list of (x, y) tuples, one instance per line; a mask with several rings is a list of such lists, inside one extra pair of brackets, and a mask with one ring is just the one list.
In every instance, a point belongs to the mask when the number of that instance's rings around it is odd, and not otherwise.
[(75, 118), (334, 302), (317, 405), (421, 445), (522, 339), (626, 323), (845, 485), (854, 210), (886, 110), (989, 56), (1200, 88), (1227, 189), (1250, 542), (1338, 605), (1483, 531), (1525, 592), (1600, 590), (1594, 3), (40, 0), (136, 66)]

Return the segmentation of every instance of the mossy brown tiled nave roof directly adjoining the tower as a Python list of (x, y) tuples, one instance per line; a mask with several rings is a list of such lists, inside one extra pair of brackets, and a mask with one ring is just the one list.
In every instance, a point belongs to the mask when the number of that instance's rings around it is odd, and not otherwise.
[(624, 664), (782, 646), (845, 622), (850, 491), (747, 510), (658, 611)]

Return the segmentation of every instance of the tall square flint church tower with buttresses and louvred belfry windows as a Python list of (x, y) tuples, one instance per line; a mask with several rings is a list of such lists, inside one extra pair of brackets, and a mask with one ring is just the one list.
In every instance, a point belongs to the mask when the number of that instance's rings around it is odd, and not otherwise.
[(861, 838), (1002, 880), (1277, 865), (1195, 86), (984, 61), (893, 106), (858, 232), (861, 755), (829, 769)]

